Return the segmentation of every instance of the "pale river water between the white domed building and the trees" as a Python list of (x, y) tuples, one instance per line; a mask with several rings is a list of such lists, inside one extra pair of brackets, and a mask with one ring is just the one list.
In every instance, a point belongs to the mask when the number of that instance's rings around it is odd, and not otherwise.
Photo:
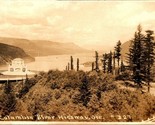
[[(44, 56), (44, 57), (36, 57), (35, 62), (31, 62), (27, 64), (29, 70), (36, 71), (49, 71), (50, 69), (58, 69), (65, 70), (66, 65), (70, 62), (71, 55), (52, 55), (52, 56)], [(80, 59), (80, 69), (84, 71), (90, 71), (91, 67), (84, 67), (82, 63), (88, 61), (94, 61), (94, 55), (91, 53), (87, 54), (74, 54), (73, 56), (73, 64), (76, 69), (76, 61), (77, 58)]]

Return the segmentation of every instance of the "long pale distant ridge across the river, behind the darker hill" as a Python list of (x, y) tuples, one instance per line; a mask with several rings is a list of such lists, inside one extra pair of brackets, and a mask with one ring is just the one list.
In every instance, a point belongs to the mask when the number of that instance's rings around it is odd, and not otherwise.
[(0, 37), (0, 42), (22, 48), (31, 56), (47, 56), (90, 52), (74, 43)]

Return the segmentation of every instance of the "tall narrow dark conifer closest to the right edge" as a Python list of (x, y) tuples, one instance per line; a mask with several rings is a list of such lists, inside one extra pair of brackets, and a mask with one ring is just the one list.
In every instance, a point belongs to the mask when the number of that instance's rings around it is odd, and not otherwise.
[(145, 42), (144, 42), (144, 57), (145, 57), (145, 76), (146, 76), (146, 82), (148, 84), (148, 92), (150, 91), (150, 81), (151, 79), (151, 67), (154, 64), (154, 37), (153, 31), (147, 30), (146, 31), (146, 37), (145, 37)]

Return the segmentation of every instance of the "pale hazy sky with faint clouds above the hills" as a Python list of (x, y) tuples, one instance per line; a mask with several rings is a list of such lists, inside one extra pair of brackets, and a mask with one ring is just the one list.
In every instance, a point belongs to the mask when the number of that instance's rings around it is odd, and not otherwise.
[(136, 27), (155, 30), (155, 2), (0, 0), (0, 36), (108, 49)]

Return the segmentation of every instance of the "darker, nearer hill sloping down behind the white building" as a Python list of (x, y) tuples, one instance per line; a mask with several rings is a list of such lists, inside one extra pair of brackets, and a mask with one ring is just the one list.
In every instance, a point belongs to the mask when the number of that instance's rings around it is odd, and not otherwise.
[(0, 43), (0, 65), (7, 64), (14, 58), (22, 58), (26, 62), (34, 61), (34, 58), (27, 55), (21, 48)]

